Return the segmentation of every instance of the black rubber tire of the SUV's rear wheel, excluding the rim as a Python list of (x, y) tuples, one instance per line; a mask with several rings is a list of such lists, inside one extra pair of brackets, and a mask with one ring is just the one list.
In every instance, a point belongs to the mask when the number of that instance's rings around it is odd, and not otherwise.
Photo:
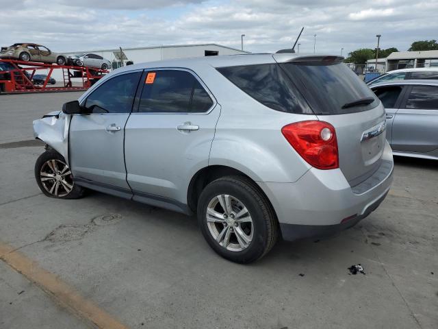
[[(222, 247), (207, 225), (207, 207), (217, 195), (222, 194), (231, 195), (241, 201), (252, 218), (253, 239), (242, 251), (230, 251)], [(263, 257), (279, 237), (279, 224), (268, 199), (254, 182), (243, 176), (226, 176), (205, 186), (198, 199), (197, 212), (198, 223), (207, 243), (220, 256), (235, 263), (251, 263)], [(224, 223), (223, 225), (226, 226)]]

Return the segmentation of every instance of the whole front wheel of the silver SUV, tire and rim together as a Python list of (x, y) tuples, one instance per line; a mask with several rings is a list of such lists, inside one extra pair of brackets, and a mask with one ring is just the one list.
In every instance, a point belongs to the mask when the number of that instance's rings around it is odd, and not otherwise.
[(69, 172), (64, 158), (53, 149), (41, 154), (35, 163), (36, 183), (48, 197), (78, 199), (83, 196), (85, 189), (73, 182), (73, 175)]

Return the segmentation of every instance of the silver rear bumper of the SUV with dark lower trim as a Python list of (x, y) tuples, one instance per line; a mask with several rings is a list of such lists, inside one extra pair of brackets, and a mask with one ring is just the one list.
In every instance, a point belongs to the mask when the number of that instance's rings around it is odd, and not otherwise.
[(351, 187), (340, 169), (309, 169), (294, 183), (261, 182), (279, 219), (283, 239), (293, 241), (334, 234), (354, 226), (385, 199), (394, 161), (386, 142), (372, 177)]

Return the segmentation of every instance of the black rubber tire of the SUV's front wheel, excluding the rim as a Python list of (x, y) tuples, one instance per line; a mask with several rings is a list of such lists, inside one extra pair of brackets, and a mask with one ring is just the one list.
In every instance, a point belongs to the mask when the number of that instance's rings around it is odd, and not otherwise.
[[(50, 193), (49, 188), (50, 188), (53, 181), (42, 182), (41, 173), (42, 173), (42, 171), (45, 172), (46, 170), (51, 171), (53, 173), (53, 170), (51, 170), (50, 167), (47, 165), (47, 162), (51, 161), (51, 160), (55, 160), (55, 162), (57, 164), (59, 164), (60, 162), (62, 162), (63, 164), (66, 163), (64, 160), (64, 157), (61, 156), (59, 153), (57, 153), (53, 149), (48, 149), (47, 151), (45, 151), (43, 154), (41, 154), (38, 157), (38, 159), (36, 160), (36, 163), (35, 163), (35, 179), (36, 179), (36, 183), (38, 184), (38, 187), (40, 188), (42, 193), (44, 193), (48, 197), (54, 197), (57, 199), (79, 199), (79, 197), (82, 197), (85, 189), (81, 186), (76, 185), (73, 182), (73, 175), (71, 175), (71, 174), (69, 174), (68, 176), (66, 176), (64, 178), (65, 182), (67, 182), (70, 185), (73, 185), (73, 188), (71, 188), (71, 191), (66, 193), (67, 189), (64, 188), (64, 185), (62, 183), (60, 183), (59, 184), (60, 187), (58, 188), (58, 190), (60, 191), (59, 195), (55, 195), (54, 193)], [(68, 169), (68, 167), (67, 167), (67, 169)], [(66, 172), (68, 172), (68, 171), (66, 171)], [(55, 173), (53, 173), (53, 174), (55, 174)], [(54, 180), (55, 180), (55, 182), (53, 182), (53, 184), (56, 183), (56, 179), (54, 179)]]

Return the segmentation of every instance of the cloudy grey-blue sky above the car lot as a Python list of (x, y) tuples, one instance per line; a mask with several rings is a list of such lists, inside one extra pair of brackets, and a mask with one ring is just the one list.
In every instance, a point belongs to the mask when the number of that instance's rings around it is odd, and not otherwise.
[(290, 48), (343, 55), (359, 48), (405, 51), (438, 39), (438, 0), (0, 0), (0, 45), (53, 51), (217, 43), (250, 52)]

